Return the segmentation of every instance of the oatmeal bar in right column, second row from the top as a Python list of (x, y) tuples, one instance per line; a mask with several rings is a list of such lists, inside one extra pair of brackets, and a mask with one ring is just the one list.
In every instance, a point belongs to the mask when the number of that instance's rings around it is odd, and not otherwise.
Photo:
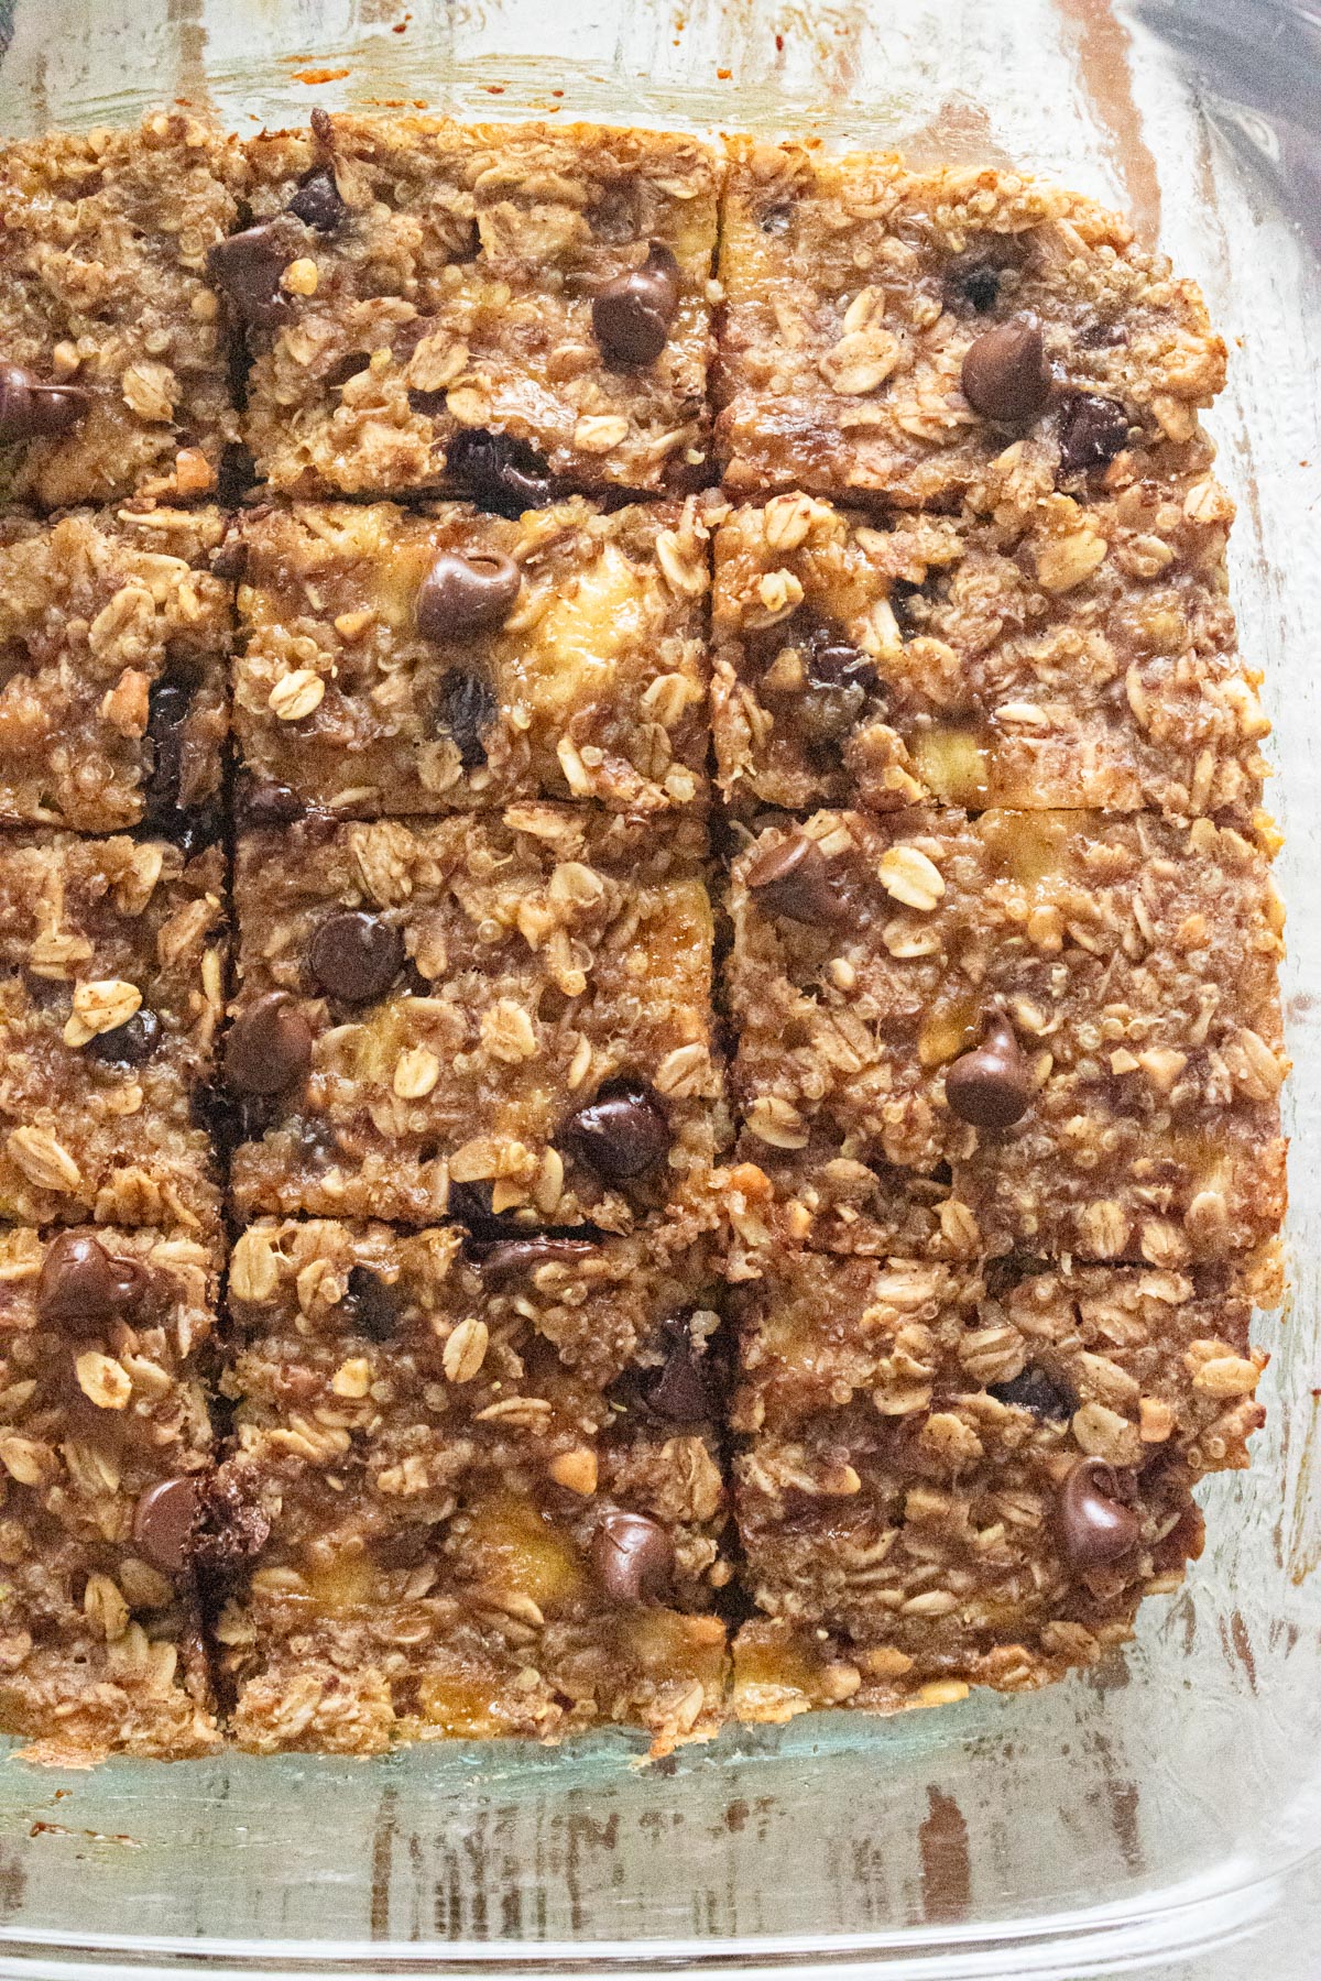
[(774, 495), (717, 529), (733, 804), (1252, 816), (1270, 723), (1236, 652), (1224, 489), (1075, 501), (1010, 448), (974, 493), (891, 527)]

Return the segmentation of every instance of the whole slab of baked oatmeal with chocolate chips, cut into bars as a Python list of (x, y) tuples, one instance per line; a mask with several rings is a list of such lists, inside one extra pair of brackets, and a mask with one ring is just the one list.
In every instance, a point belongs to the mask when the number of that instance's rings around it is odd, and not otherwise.
[(0, 1727), (663, 1753), (1178, 1585), (1285, 1202), (1222, 374), (1002, 170), (0, 149)]

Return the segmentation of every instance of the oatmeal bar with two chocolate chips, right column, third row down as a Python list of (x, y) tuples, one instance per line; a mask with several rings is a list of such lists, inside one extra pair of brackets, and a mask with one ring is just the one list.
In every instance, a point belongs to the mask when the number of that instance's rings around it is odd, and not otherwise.
[(1268, 828), (911, 808), (733, 868), (737, 1216), (842, 1250), (1190, 1260), (1283, 1212)]

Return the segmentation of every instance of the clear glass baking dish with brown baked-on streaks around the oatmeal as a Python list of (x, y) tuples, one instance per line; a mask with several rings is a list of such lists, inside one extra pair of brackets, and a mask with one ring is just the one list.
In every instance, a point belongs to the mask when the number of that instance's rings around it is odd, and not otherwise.
[(0, 1759), (0, 1971), (1321, 1973), (1321, 20), (1266, 0), (0, 0), (0, 129), (184, 97), (426, 103), (1024, 162), (1127, 208), (1232, 349), (1214, 412), (1266, 670), (1297, 1062), (1270, 1426), (1125, 1660), (1032, 1698), (309, 1757)]

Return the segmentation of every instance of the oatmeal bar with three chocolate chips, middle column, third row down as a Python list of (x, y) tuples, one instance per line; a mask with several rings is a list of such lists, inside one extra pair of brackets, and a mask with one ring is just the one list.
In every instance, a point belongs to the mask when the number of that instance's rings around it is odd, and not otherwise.
[(715, 1214), (703, 822), (521, 804), (238, 844), (244, 1212)]

